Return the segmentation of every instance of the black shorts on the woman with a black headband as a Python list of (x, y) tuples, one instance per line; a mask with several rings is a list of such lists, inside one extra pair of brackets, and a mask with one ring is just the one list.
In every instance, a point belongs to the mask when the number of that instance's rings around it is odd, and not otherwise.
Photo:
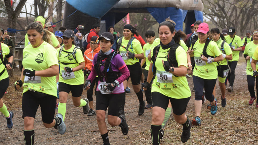
[[(130, 77), (132, 80), (132, 85), (139, 85), (141, 83), (141, 65), (139, 63), (135, 63), (132, 65), (127, 65), (128, 70), (130, 71)], [(127, 78), (128, 81), (129, 77)]]

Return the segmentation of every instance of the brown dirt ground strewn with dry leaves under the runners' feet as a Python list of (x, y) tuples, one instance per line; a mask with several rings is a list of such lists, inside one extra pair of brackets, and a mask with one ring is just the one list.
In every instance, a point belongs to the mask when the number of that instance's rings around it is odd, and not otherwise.
[[(216, 86), (216, 98), (218, 98), (218, 112), (212, 116), (206, 109), (208, 102), (205, 102), (201, 110), (202, 125), (193, 126), (191, 137), (185, 145), (257, 145), (258, 144), (258, 113), (255, 105), (249, 106), (249, 91), (246, 81), (246, 63), (243, 57), (240, 57), (236, 67), (236, 77), (234, 91), (226, 91), (227, 105), (221, 107), (220, 90), (218, 83)], [(10, 85), (3, 101), (8, 110), (14, 112), (13, 127), (8, 129), (6, 119), (0, 113), (0, 144), (1, 145), (23, 145), (23, 119), (22, 119), (22, 91), (14, 91), (13, 84), (18, 80), (20, 72), (14, 69), (14, 75), (10, 78)], [(193, 88), (193, 81), (187, 78), (189, 86)], [(131, 87), (132, 88), (132, 87)], [(82, 98), (86, 97), (86, 91)], [(96, 97), (94, 96), (94, 104)], [(194, 113), (194, 93), (187, 106), (186, 114), (192, 120)], [(119, 126), (112, 127), (107, 125), (109, 131), (110, 143), (112, 145), (150, 145), (150, 122), (152, 109), (145, 109), (143, 116), (138, 116), (138, 99), (133, 90), (126, 95), (125, 114), (129, 126), (128, 135), (123, 135)], [(57, 112), (57, 110), (56, 110)], [(100, 145), (102, 138), (99, 134), (96, 123), (96, 116), (86, 116), (81, 107), (75, 107), (72, 104), (71, 97), (67, 102), (67, 111), (65, 124), (66, 133), (61, 135), (54, 128), (46, 129), (41, 120), (40, 109), (38, 109), (35, 118), (35, 144), (58, 144), (58, 145)], [(107, 121), (106, 121), (107, 122)], [(177, 124), (173, 117), (168, 121), (165, 127), (163, 145), (180, 145), (180, 136), (182, 125)]]

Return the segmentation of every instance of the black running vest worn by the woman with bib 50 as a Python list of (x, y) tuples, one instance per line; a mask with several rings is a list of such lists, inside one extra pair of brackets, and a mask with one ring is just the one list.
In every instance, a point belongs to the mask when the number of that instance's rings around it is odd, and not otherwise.
[[(178, 67), (178, 63), (176, 61), (176, 49), (179, 46), (180, 45), (178, 43), (175, 43), (172, 45), (172, 47), (168, 51), (168, 56), (166, 58), (169, 62), (169, 66), (171, 66), (171, 67)], [(159, 53), (159, 48), (160, 48), (160, 44), (158, 46), (154, 47), (154, 49), (153, 49), (153, 56), (151, 58), (151, 60), (153, 62), (153, 65), (152, 65), (153, 74), (156, 74), (156, 70), (157, 70), (157, 68), (155, 67), (155, 61), (156, 61), (158, 53)], [(176, 76), (176, 75), (174, 75), (174, 76)], [(155, 75), (154, 75), (154, 77), (155, 77)]]

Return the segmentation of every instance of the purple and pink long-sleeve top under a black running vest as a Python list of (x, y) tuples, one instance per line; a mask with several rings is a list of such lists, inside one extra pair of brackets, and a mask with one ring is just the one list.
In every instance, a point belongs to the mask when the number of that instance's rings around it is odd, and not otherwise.
[[(112, 51), (113, 52), (113, 51)], [(97, 76), (97, 72), (94, 69), (94, 65), (96, 64), (97, 61), (97, 57), (98, 54), (96, 54), (93, 58), (92, 61), (92, 68), (91, 68), (91, 73), (89, 74), (89, 77), (87, 78), (87, 80), (90, 80), (91, 82), (96, 78)], [(104, 63), (105, 60), (103, 60)], [(124, 93), (124, 85), (123, 85), (123, 81), (125, 81), (129, 76), (130, 76), (130, 72), (126, 66), (126, 64), (124, 63), (124, 60), (122, 59), (122, 57), (120, 55), (116, 55), (113, 57), (113, 59), (111, 60), (111, 65), (110, 67), (112, 68), (113, 71), (116, 72), (120, 72), (122, 75), (117, 79), (117, 81), (119, 82), (119, 86), (117, 86), (114, 90), (112, 94), (119, 94), (119, 93)], [(100, 74), (103, 75), (103, 70), (104, 70), (104, 66), (102, 65), (100, 67)], [(105, 78), (103, 78), (103, 81), (105, 81)], [(99, 86), (100, 81), (98, 82), (98, 86)], [(99, 91), (99, 88), (97, 88), (97, 91)]]

